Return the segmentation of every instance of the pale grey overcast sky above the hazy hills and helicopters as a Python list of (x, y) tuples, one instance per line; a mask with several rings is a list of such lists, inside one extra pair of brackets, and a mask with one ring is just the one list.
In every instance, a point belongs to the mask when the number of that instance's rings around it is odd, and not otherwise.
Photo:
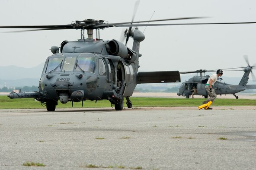
[[(74, 20), (131, 21), (137, 0), (1, 0), (0, 25), (64, 25)], [(255, 22), (255, 0), (140, 0), (134, 21), (205, 16), (178, 22)], [(178, 23), (173, 21), (172, 23)], [(171, 23), (171, 22), (161, 22)], [(120, 40), (125, 28), (100, 31), (104, 40)], [(139, 28), (144, 31), (145, 27)], [(0, 66), (34, 67), (51, 55), (51, 46), (80, 38), (80, 30), (3, 33)], [(147, 27), (141, 42), (139, 71), (194, 71), (256, 64), (256, 24)], [(94, 34), (96, 38), (96, 34)], [(132, 39), (128, 47), (132, 48)], [(2, 74), (2, 73), (1, 73)], [(237, 77), (243, 72), (226, 72)]]

